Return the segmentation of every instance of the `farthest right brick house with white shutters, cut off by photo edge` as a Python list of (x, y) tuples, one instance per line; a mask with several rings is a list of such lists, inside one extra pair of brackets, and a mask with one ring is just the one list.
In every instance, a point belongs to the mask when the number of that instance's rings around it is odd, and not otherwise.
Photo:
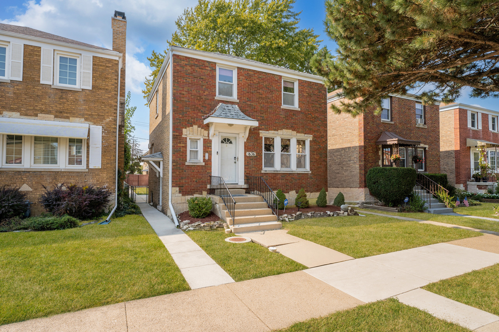
[(474, 192), (494, 187), (495, 179), (481, 184), (470, 180), (480, 172), (480, 145), (487, 148), (492, 173), (498, 172), (498, 116), (499, 111), (472, 105), (440, 106), (440, 168), (450, 184)]

